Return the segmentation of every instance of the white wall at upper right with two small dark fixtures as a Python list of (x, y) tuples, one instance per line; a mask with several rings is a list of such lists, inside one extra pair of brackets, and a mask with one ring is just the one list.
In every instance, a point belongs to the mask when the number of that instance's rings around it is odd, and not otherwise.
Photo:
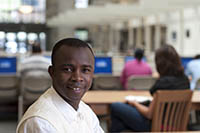
[[(179, 15), (178, 15), (179, 14)], [(196, 9), (186, 9), (183, 11), (183, 21), (180, 12), (168, 17), (167, 42), (172, 44), (181, 56), (191, 57), (200, 53), (200, 18)], [(190, 36), (186, 36), (189, 30)], [(172, 39), (172, 32), (177, 32), (177, 40)], [(181, 40), (181, 36), (183, 40)]]

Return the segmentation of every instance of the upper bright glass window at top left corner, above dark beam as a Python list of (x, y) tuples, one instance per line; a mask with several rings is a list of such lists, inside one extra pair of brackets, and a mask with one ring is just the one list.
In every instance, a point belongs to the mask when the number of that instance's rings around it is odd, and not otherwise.
[(46, 0), (0, 0), (0, 23), (46, 22)]

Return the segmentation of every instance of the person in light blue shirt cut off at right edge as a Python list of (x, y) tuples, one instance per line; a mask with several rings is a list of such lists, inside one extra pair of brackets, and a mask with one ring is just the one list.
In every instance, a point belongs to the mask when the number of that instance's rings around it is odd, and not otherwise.
[(190, 79), (191, 90), (194, 90), (197, 80), (200, 79), (200, 55), (196, 55), (194, 60), (187, 64), (185, 74)]

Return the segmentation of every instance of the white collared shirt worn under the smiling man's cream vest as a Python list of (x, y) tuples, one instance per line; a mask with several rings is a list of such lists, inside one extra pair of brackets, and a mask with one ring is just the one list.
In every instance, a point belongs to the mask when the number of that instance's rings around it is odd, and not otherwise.
[[(53, 89), (54, 90), (54, 89)], [(70, 128), (74, 129), (75, 133), (87, 132), (88, 129), (92, 129), (94, 133), (103, 133), (104, 131), (99, 125), (98, 118), (88, 105), (82, 101), (79, 104), (79, 108), (76, 111), (71, 105), (65, 102), (54, 90), (52, 101), (59, 112), (62, 113), (64, 119), (70, 125)], [(56, 117), (56, 115), (55, 115)], [(92, 118), (91, 122), (88, 122)], [(89, 123), (89, 124), (88, 124)], [(87, 125), (87, 126), (86, 126)], [(23, 131), (22, 131), (23, 130)], [(47, 120), (40, 117), (31, 117), (27, 119), (20, 128), (20, 133), (56, 133), (55, 127)]]

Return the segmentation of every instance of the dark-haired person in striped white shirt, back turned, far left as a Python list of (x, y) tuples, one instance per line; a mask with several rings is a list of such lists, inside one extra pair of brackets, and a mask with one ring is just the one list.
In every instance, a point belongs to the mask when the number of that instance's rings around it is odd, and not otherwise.
[[(35, 69), (44, 69), (48, 70), (50, 65), (50, 60), (42, 55), (41, 47), (38, 43), (32, 45), (31, 56), (25, 58), (20, 63), (20, 71), (23, 73), (25, 71), (35, 70)], [(36, 72), (32, 72), (36, 74)]]

